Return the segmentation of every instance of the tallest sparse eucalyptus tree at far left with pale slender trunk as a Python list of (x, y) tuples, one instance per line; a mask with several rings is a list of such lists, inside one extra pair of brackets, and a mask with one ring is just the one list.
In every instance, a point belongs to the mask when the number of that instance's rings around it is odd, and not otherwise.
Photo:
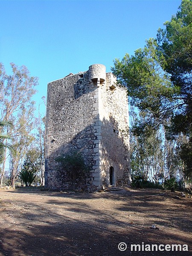
[[(15, 183), (15, 175), (20, 168), (20, 156), (26, 150), (23, 143), (29, 142), (29, 130), (33, 125), (31, 118), (34, 111), (35, 102), (32, 96), (36, 93), (35, 86), (38, 84), (38, 78), (30, 76), (29, 70), (25, 66), (17, 67), (11, 63), (12, 74), (7, 75), (5, 68), (0, 63), (0, 119), (2, 121), (11, 120), (13, 128), (9, 129), (9, 134), (13, 137), (15, 154), (11, 154), (10, 163), (12, 163), (11, 177), (12, 186)], [(30, 113), (29, 116), (24, 112)], [(26, 122), (22, 119), (26, 117)], [(29, 122), (27, 122), (29, 120)], [(31, 136), (31, 135), (30, 135)], [(5, 166), (6, 153), (3, 158)]]

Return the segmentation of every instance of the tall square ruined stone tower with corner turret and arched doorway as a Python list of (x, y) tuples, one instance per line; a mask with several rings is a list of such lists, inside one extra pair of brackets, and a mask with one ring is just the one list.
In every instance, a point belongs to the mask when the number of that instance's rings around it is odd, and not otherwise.
[(90, 167), (81, 184), (90, 190), (131, 183), (128, 136), (128, 97), (105, 66), (48, 84), (45, 184), (50, 189), (71, 189), (58, 179), (55, 158), (81, 151)]

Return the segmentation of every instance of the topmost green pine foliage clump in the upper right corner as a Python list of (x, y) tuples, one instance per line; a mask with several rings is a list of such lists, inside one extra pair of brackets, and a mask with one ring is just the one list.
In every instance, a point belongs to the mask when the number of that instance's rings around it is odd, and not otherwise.
[(192, 0), (183, 0), (180, 11), (166, 21), (157, 34), (158, 49), (166, 59), (164, 68), (180, 93), (192, 93)]

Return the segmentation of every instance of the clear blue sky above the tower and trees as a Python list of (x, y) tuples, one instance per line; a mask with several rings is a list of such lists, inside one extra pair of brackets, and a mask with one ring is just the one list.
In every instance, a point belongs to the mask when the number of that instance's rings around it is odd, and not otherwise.
[(0, 62), (28, 67), (39, 77), (39, 103), (47, 83), (106, 66), (145, 45), (176, 14), (181, 0), (0, 1)]

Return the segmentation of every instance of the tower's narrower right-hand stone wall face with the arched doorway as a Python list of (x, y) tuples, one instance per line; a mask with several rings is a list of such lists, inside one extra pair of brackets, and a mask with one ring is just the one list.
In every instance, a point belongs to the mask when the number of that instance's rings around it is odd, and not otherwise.
[(116, 85), (112, 73), (99, 87), (99, 117), (101, 122), (99, 169), (102, 183), (110, 185), (109, 170), (114, 169), (113, 185), (131, 183), (128, 133), (128, 97), (126, 90)]

